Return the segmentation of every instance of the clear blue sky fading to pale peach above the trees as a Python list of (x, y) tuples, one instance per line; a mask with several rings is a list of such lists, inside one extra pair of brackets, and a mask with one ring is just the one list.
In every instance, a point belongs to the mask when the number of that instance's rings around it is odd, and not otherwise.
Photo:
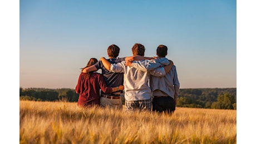
[(180, 88), (237, 88), (237, 3), (19, 1), (19, 86), (75, 89), (90, 58), (168, 47)]

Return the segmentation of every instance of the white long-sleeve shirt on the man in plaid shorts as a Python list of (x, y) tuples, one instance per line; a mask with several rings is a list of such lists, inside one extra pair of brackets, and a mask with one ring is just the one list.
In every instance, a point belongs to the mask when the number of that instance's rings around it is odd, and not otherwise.
[[(155, 60), (138, 60), (134, 61), (132, 65), (138, 65), (138, 69), (132, 68), (132, 66), (126, 66), (125, 61), (111, 64), (110, 66), (111, 72), (124, 73), (125, 100), (151, 99), (152, 93), (149, 86), (150, 73), (155, 73), (155, 75), (159, 76), (165, 75), (164, 68), (158, 68), (161, 64), (156, 63)], [(151, 71), (154, 69), (155, 71)]]

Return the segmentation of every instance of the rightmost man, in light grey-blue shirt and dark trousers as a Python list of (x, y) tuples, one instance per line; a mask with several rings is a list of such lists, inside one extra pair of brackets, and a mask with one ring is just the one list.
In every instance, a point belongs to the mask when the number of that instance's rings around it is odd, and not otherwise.
[[(156, 49), (156, 63), (168, 65), (165, 56), (168, 48), (165, 45), (159, 45)], [(141, 69), (144, 65), (140, 63), (132, 63), (131, 66), (136, 69)], [(176, 100), (179, 94), (180, 83), (176, 66), (173, 65), (171, 70), (164, 76), (150, 76), (150, 88), (153, 92), (152, 111), (168, 112), (172, 114), (175, 111)]]

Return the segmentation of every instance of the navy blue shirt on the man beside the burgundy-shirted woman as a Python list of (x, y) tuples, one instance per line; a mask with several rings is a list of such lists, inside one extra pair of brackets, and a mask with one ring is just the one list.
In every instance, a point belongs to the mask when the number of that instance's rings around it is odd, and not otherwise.
[[(120, 63), (121, 61), (125, 61), (125, 58), (117, 58), (117, 59), (107, 59), (111, 64)], [(98, 61), (95, 64), (97, 69), (101, 69), (102, 75), (108, 87), (116, 87), (119, 85), (123, 85), (124, 83), (124, 73), (112, 73), (107, 70), (101, 61)]]

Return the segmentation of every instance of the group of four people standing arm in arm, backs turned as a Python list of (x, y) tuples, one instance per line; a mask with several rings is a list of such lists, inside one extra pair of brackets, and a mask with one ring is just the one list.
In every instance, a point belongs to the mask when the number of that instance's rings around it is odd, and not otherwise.
[[(165, 58), (168, 48), (159, 45), (156, 58), (145, 57), (145, 47), (136, 43), (133, 56), (117, 58), (120, 48), (107, 48), (109, 59), (91, 58), (79, 76), (76, 92), (78, 106), (101, 105), (122, 109), (120, 95), (124, 90), (125, 111), (149, 110), (174, 112), (179, 80), (173, 61)], [(102, 74), (93, 73), (101, 69)], [(101, 89), (101, 94), (100, 94)]]

